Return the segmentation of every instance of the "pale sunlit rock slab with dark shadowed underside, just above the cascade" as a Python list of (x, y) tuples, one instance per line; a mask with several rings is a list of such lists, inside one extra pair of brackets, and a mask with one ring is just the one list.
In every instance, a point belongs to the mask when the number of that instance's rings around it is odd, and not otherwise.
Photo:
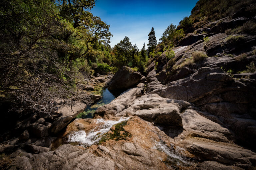
[(187, 106), (190, 106), (189, 102), (149, 94), (134, 100), (129, 108), (116, 116), (136, 115), (150, 122), (182, 127), (180, 112)]

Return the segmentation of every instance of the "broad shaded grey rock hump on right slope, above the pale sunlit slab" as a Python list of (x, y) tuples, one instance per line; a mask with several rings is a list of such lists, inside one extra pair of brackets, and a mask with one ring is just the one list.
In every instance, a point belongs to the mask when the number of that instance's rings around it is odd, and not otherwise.
[(167, 98), (195, 102), (227, 86), (234, 80), (220, 68), (203, 67), (186, 79), (171, 82), (162, 88)]

